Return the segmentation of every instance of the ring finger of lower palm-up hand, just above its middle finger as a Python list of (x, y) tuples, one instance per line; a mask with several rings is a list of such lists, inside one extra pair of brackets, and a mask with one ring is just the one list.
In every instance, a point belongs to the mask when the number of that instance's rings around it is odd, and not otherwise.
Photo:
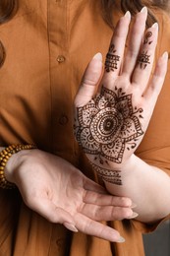
[(102, 195), (93, 191), (85, 191), (84, 203), (97, 206), (132, 207), (132, 200), (126, 197)]

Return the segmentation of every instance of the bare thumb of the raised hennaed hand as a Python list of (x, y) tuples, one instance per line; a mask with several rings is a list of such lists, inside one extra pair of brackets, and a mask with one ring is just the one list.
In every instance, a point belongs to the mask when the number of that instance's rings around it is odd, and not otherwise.
[(95, 54), (92, 60), (89, 62), (85, 75), (75, 97), (75, 106), (84, 106), (94, 95), (96, 86), (99, 82), (102, 73), (102, 55), (101, 53)]

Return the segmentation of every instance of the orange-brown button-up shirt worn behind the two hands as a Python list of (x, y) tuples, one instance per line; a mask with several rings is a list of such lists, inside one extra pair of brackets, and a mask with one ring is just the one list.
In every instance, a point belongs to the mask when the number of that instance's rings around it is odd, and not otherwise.
[[(0, 26), (6, 59), (0, 68), (0, 146), (35, 143), (77, 165), (97, 180), (73, 136), (73, 99), (85, 67), (96, 52), (105, 56), (112, 30), (100, 1), (20, 0), (17, 15)], [(119, 15), (113, 14), (115, 22)], [(170, 51), (170, 20), (158, 12), (156, 58)], [(170, 173), (170, 70), (137, 155)], [(148, 182), (151, 182), (150, 180)], [(158, 192), (158, 189), (157, 189)], [(156, 195), (155, 195), (156, 196)], [(143, 256), (142, 231), (135, 221), (108, 223), (122, 244), (73, 234), (50, 224), (23, 203), (16, 190), (0, 189), (2, 256)]]

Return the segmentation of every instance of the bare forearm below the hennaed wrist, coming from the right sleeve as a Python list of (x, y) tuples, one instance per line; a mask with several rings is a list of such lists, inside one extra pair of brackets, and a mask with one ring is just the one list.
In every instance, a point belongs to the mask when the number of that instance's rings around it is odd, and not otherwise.
[(105, 182), (114, 195), (130, 197), (137, 204), (137, 218), (154, 222), (170, 214), (170, 177), (161, 169), (133, 156), (121, 170), (122, 185)]

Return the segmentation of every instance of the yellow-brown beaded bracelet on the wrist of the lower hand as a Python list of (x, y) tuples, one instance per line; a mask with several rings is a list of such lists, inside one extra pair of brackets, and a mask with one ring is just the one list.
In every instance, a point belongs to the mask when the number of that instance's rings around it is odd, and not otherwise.
[(4, 189), (15, 188), (15, 184), (9, 182), (5, 178), (4, 169), (7, 164), (7, 161), (12, 157), (12, 155), (18, 152), (23, 150), (31, 150), (31, 149), (36, 149), (36, 146), (33, 144), (28, 144), (28, 145), (19, 144), (19, 145), (11, 145), (0, 152), (0, 188), (4, 188)]

